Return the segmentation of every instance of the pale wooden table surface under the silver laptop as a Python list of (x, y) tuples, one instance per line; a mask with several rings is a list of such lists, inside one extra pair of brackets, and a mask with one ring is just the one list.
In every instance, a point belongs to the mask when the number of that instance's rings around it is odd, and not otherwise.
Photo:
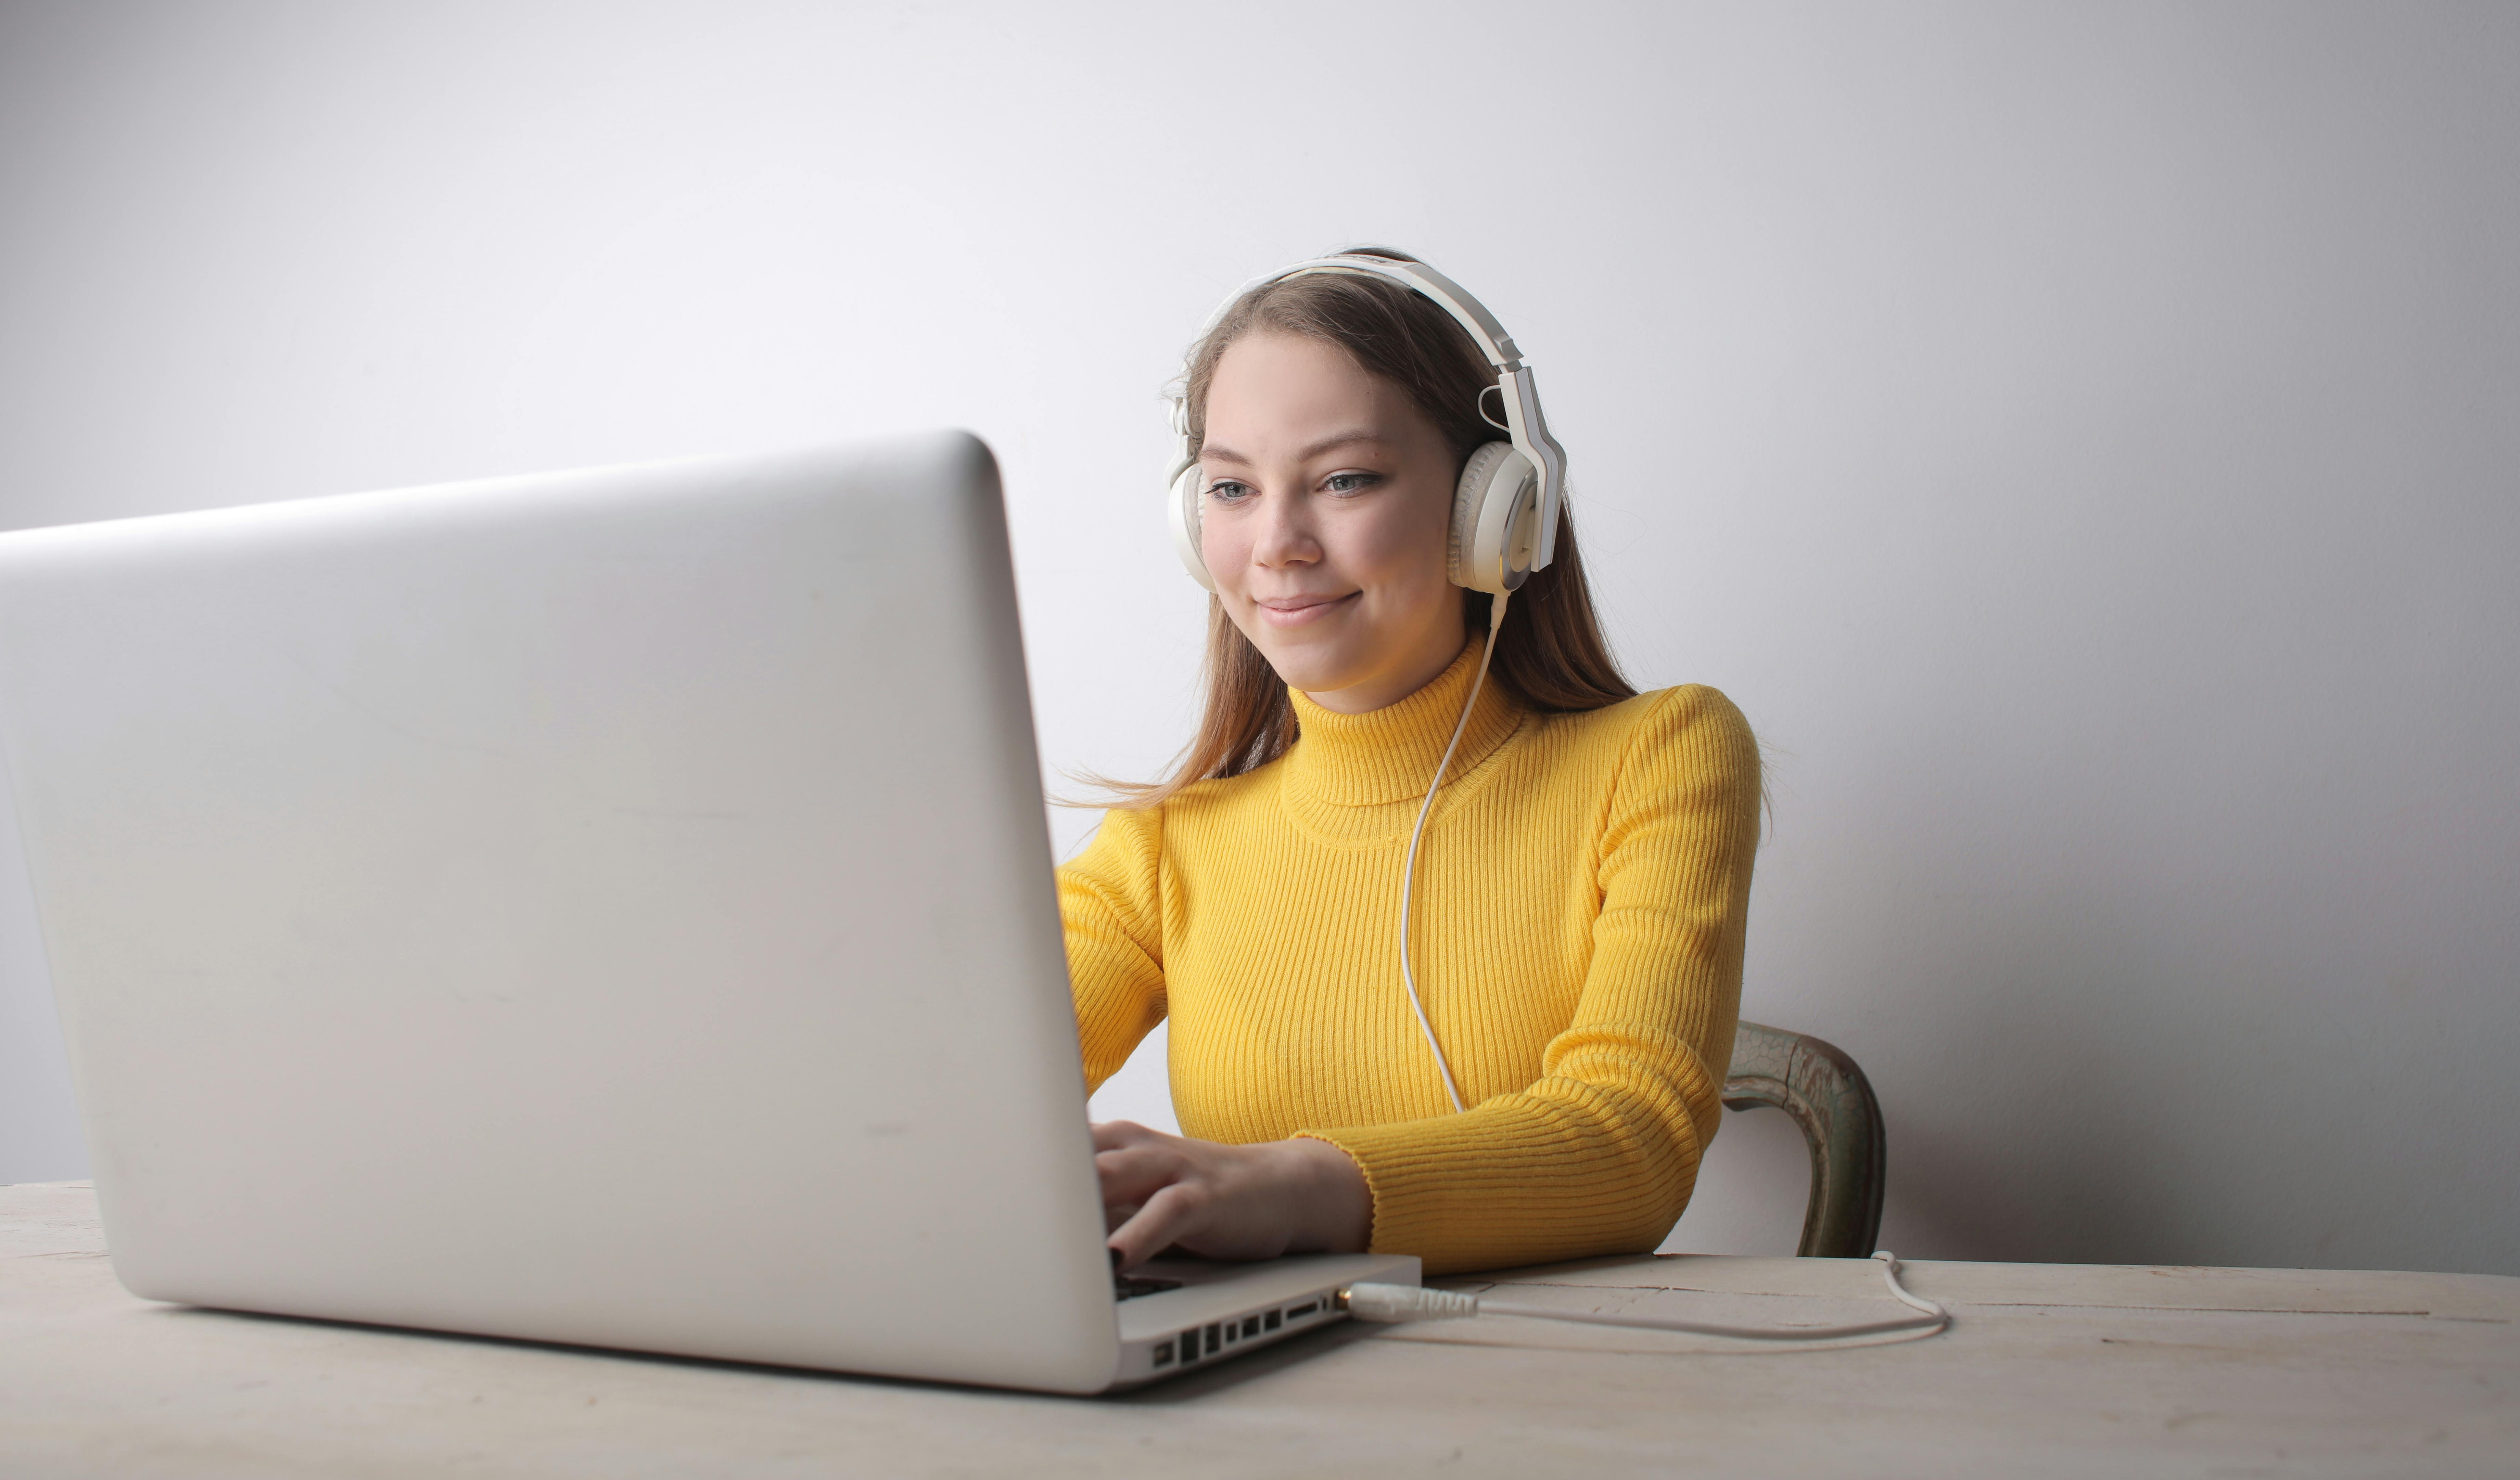
[[(1860, 1261), (1504, 1281), (1706, 1321), (1895, 1314)], [(88, 1185), (20, 1185), (0, 1475), (2520, 1475), (2520, 1278), (1913, 1263), (1910, 1286), (1948, 1334), (1341, 1324), (1061, 1399), (156, 1306), (113, 1283)]]

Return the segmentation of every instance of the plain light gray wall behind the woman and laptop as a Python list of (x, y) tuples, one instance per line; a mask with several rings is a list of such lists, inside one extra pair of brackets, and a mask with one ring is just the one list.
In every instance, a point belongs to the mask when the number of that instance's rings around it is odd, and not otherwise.
[[(0, 527), (968, 424), (1046, 756), (1147, 774), (1157, 388), (1353, 240), (1772, 746), (1744, 1006), (1893, 1248), (2520, 1273), (2507, 5), (0, 5)], [(0, 1180), (81, 1170), (0, 819)], [(1799, 1198), (1731, 1117), (1673, 1246)]]

